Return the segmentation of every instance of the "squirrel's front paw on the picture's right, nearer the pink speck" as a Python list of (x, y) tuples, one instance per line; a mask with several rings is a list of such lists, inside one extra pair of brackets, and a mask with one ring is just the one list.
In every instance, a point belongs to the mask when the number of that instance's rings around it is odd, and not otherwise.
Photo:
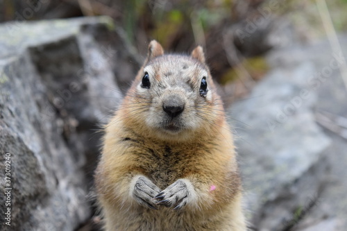
[(189, 180), (179, 179), (156, 195), (155, 199), (159, 200), (157, 205), (173, 207), (176, 210), (192, 202), (196, 197), (195, 194), (194, 187)]

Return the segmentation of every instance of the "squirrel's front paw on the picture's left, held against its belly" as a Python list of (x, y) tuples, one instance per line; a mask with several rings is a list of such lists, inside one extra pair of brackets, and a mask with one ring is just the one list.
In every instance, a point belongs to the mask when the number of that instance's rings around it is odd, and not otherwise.
[(134, 178), (134, 182), (135, 184), (133, 186), (132, 195), (137, 203), (144, 207), (158, 209), (155, 203), (156, 201), (153, 198), (155, 195), (160, 193), (160, 188), (154, 185), (153, 182), (151, 182), (151, 180), (145, 176), (138, 176), (137, 178)]

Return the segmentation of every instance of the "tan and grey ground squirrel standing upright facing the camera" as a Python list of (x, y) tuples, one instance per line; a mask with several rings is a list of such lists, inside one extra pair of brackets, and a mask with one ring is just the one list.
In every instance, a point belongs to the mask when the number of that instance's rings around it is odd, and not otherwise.
[(246, 230), (232, 133), (201, 46), (155, 40), (105, 127), (95, 174), (105, 230)]

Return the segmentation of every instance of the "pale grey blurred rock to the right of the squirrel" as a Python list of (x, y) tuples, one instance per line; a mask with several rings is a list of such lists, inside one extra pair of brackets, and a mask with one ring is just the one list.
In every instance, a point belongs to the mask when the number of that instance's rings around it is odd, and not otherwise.
[(346, 117), (346, 62), (327, 41), (269, 53), (272, 71), (230, 109), (255, 230), (346, 230), (347, 142), (316, 112)]

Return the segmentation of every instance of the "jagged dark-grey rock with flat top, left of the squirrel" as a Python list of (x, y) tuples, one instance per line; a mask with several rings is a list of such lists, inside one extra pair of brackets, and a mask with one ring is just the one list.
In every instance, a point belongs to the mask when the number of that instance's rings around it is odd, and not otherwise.
[(121, 99), (115, 74), (134, 76), (138, 60), (105, 17), (12, 22), (0, 35), (0, 185), (10, 153), (12, 188), (0, 230), (75, 230), (91, 216), (96, 130)]

